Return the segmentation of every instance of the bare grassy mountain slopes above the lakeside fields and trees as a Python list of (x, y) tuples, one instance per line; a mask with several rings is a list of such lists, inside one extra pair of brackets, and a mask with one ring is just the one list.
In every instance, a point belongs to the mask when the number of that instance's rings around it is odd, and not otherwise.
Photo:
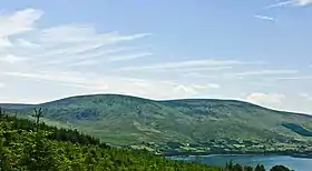
[(108, 143), (207, 141), (217, 138), (312, 140), (286, 129), (312, 129), (312, 117), (231, 100), (153, 101), (126, 95), (84, 95), (39, 104), (51, 124), (78, 128)]

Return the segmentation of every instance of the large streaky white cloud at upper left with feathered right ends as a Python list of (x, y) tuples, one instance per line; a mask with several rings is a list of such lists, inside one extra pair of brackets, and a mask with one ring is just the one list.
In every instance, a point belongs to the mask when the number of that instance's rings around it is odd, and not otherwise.
[[(99, 62), (107, 54), (118, 53), (116, 58), (107, 58), (106, 62), (133, 60), (150, 54), (146, 51), (127, 51), (120, 46), (150, 33), (124, 36), (117, 31), (99, 33), (91, 24), (67, 24), (51, 28), (39, 28), (36, 21), (42, 11), (25, 9), (0, 14), (0, 60), (16, 63), (27, 57), (32, 64), (70, 64), (92, 59)], [(11, 37), (14, 36), (14, 37)], [(123, 53), (121, 53), (123, 52)]]

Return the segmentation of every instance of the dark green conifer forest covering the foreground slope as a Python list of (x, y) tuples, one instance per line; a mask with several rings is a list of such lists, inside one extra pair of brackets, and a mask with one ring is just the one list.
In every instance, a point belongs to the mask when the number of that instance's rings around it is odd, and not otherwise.
[[(40, 122), (42, 110), (35, 110), (35, 121), (12, 117), (0, 110), (0, 171), (263, 171), (263, 165), (244, 167), (228, 162), (217, 168), (167, 160), (147, 151), (111, 148), (77, 130), (58, 129)], [(276, 165), (272, 171), (287, 171)]]

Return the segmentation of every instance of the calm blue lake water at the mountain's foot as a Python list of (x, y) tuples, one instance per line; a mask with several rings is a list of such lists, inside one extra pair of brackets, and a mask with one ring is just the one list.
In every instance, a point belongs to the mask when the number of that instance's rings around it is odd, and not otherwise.
[(289, 155), (205, 155), (205, 157), (174, 157), (174, 160), (187, 160), (209, 165), (224, 167), (227, 161), (245, 165), (261, 163), (266, 170), (274, 165), (285, 165), (294, 171), (312, 171), (312, 159), (293, 158)]

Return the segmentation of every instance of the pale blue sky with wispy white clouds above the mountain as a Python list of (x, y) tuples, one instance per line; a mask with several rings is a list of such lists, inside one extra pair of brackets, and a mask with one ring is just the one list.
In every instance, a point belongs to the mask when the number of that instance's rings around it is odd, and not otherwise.
[(312, 0), (1, 0), (0, 102), (118, 93), (312, 114)]

